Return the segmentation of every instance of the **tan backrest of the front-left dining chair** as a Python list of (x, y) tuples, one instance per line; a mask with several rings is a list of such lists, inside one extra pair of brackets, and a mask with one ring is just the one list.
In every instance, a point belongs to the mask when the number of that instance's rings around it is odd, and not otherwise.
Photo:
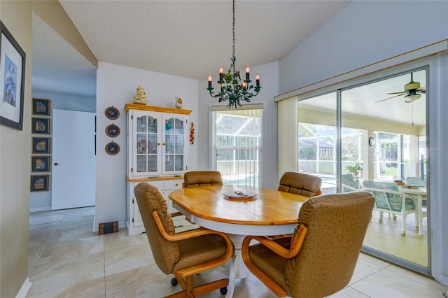
[(151, 214), (153, 211), (157, 211), (165, 231), (174, 234), (174, 223), (170, 213), (167, 212), (167, 200), (157, 187), (146, 182), (141, 182), (134, 187), (134, 194), (155, 263), (163, 273), (170, 274), (180, 257), (179, 244), (163, 238)]

